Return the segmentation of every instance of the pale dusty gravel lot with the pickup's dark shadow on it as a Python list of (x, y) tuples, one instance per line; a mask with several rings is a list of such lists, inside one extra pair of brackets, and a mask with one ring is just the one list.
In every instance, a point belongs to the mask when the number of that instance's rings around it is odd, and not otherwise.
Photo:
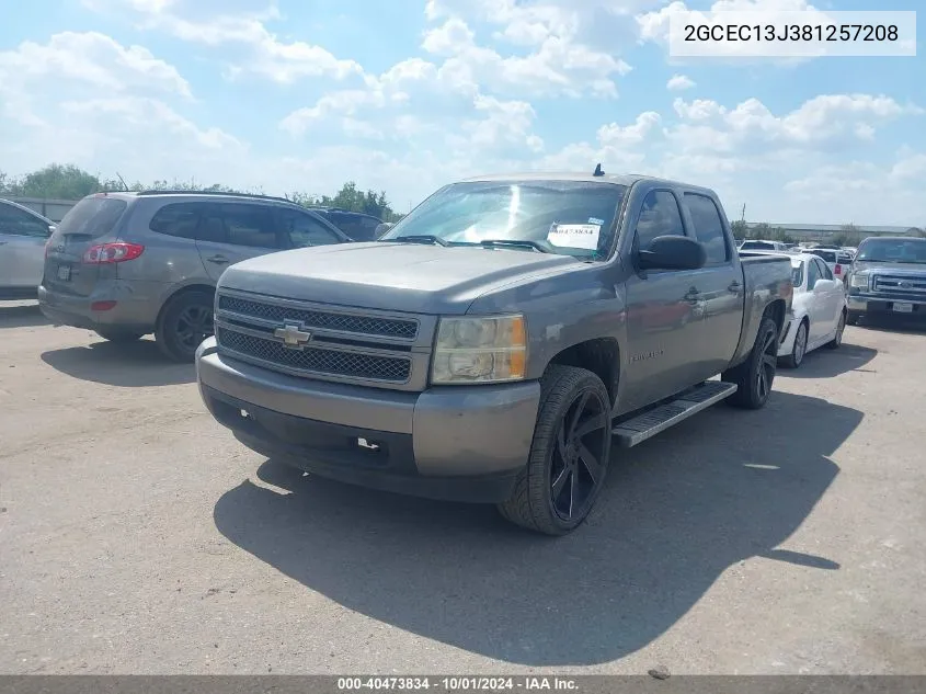
[(281, 469), (192, 366), (0, 306), (0, 672), (926, 673), (926, 332), (622, 452), (588, 523)]

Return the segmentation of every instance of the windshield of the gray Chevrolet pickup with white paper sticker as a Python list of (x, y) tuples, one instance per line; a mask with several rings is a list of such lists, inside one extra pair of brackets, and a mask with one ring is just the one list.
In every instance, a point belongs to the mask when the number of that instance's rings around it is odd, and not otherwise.
[(379, 240), (431, 237), (447, 246), (523, 241), (525, 250), (604, 259), (626, 192), (624, 185), (586, 181), (454, 183)]

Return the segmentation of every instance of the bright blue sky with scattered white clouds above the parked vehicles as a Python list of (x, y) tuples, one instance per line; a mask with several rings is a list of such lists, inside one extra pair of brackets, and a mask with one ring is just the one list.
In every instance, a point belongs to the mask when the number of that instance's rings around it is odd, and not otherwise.
[(35, 0), (0, 25), (0, 170), (58, 161), (273, 194), (355, 180), (404, 211), (457, 178), (602, 161), (716, 187), (731, 217), (926, 226), (922, 52), (668, 56), (672, 12), (808, 7)]

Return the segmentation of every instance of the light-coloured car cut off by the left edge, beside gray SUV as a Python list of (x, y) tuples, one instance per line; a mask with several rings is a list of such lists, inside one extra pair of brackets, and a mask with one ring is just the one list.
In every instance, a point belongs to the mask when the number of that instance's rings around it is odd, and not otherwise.
[(34, 299), (45, 271), (45, 243), (55, 223), (0, 200), (0, 299)]

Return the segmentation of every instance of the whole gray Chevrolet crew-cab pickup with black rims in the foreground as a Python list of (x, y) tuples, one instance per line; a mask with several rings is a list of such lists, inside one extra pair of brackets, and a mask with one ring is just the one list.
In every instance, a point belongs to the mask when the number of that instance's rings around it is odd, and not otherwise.
[(765, 405), (791, 292), (790, 259), (741, 259), (704, 187), (480, 178), (378, 241), (228, 268), (197, 378), (213, 416), (273, 460), (495, 503), (561, 535), (588, 514), (613, 442), (721, 399)]

